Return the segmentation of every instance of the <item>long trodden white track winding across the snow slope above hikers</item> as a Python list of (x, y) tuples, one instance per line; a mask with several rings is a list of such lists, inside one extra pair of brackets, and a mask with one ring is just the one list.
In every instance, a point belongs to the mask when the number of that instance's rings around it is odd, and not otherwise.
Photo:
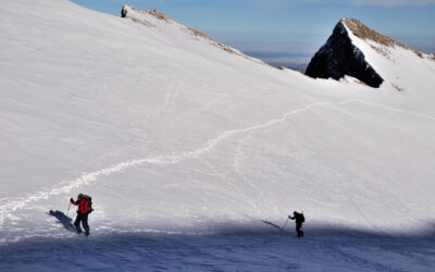
[(238, 129), (233, 129), (233, 131), (227, 131), (219, 135), (217, 137), (209, 140), (202, 148), (198, 148), (196, 150), (189, 151), (189, 152), (184, 152), (179, 154), (170, 154), (170, 156), (158, 156), (153, 158), (145, 158), (145, 159), (138, 159), (138, 160), (130, 160), (126, 162), (121, 162), (116, 165), (109, 166), (92, 173), (85, 173), (80, 177), (77, 177), (74, 181), (70, 182), (62, 182), (60, 187), (53, 187), (53, 188), (46, 188), (40, 191), (36, 191), (33, 194), (27, 195), (25, 198), (15, 198), (15, 199), (2, 199), (3, 202), (7, 202), (4, 205), (0, 206), (0, 226), (1, 228), (3, 227), (4, 220), (11, 214), (16, 211), (16, 210), (22, 210), (24, 209), (28, 203), (42, 200), (42, 199), (48, 199), (50, 196), (54, 195), (60, 195), (63, 193), (70, 193), (74, 188), (78, 188), (84, 185), (89, 185), (94, 182), (96, 182), (99, 177), (101, 176), (109, 176), (113, 173), (120, 173), (125, 171), (126, 169), (137, 166), (140, 164), (156, 164), (156, 165), (170, 165), (170, 164), (177, 164), (181, 161), (188, 159), (188, 158), (198, 158), (202, 154), (206, 154), (210, 152), (212, 149), (214, 149), (221, 141), (223, 141), (226, 138), (233, 137), (238, 134), (244, 134), (244, 133), (250, 133), (253, 131), (260, 131), (268, 128), (270, 126), (283, 123), (287, 120), (287, 118), (291, 115), (296, 115), (306, 111), (309, 111), (313, 108), (320, 108), (324, 106), (344, 106), (348, 103), (362, 103), (362, 104), (368, 104), (372, 107), (378, 107), (378, 108), (384, 108), (388, 109), (391, 111), (397, 111), (397, 112), (402, 112), (402, 113), (408, 113), (411, 115), (420, 116), (420, 118), (425, 118), (430, 119), (432, 121), (435, 121), (435, 118), (423, 114), (423, 113), (418, 113), (409, 110), (402, 110), (402, 109), (397, 109), (393, 108), (389, 106), (384, 106), (384, 104), (377, 104), (373, 102), (368, 102), (359, 99), (349, 99), (349, 100), (344, 100), (344, 101), (325, 101), (325, 102), (316, 102), (316, 103), (311, 103), (308, 104), (303, 108), (293, 110), (290, 112), (285, 113), (282, 118), (279, 119), (274, 119), (271, 120), (266, 123), (260, 124), (260, 125), (254, 125), (254, 126), (249, 126), (246, 128), (238, 128)]

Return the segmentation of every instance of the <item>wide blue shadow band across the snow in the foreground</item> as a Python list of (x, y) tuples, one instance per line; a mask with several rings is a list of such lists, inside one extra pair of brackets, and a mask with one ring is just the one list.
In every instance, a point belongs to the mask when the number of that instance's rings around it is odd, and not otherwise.
[[(71, 219), (52, 212), (66, 230)], [(0, 270), (102, 271), (428, 271), (435, 232), (390, 235), (361, 230), (293, 227), (223, 230), (209, 235), (109, 233), (32, 238), (0, 246)]]

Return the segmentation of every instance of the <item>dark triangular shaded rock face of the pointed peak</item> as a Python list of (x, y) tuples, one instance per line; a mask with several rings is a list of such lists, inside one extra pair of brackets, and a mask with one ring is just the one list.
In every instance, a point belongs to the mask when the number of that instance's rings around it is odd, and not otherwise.
[(352, 45), (344, 20), (337, 23), (326, 44), (311, 59), (306, 75), (337, 81), (349, 75), (374, 88), (384, 82), (365, 61), (363, 52)]

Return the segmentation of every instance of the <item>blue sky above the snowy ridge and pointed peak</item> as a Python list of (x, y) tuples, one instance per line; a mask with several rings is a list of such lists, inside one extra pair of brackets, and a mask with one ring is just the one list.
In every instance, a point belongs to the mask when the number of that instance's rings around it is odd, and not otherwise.
[[(424, 52), (435, 52), (435, 0), (73, 0), (120, 15), (124, 3), (158, 9), (209, 36), (261, 55), (307, 62), (341, 17)], [(269, 58), (269, 59), (268, 59)]]

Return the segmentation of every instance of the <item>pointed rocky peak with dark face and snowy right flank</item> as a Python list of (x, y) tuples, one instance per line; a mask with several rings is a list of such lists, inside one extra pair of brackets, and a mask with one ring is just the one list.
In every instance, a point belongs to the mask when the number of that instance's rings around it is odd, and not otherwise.
[[(376, 88), (387, 81), (402, 91), (414, 89), (406, 86), (426, 76), (409, 69), (413, 65), (425, 66), (424, 72), (432, 73), (435, 62), (431, 55), (381, 35), (358, 20), (343, 18), (327, 42), (312, 58), (306, 74), (334, 79), (348, 75)], [(401, 76), (408, 71), (412, 71), (411, 75)], [(403, 81), (403, 77), (408, 78)]]

